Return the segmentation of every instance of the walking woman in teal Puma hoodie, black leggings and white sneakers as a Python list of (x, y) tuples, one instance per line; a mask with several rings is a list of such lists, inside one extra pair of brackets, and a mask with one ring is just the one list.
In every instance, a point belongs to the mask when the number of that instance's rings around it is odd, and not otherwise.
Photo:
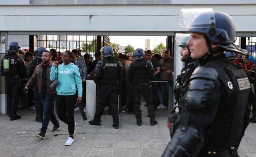
[[(68, 124), (69, 137), (65, 145), (69, 146), (74, 142), (73, 135), (75, 130), (74, 108), (75, 102), (82, 101), (82, 80), (78, 67), (71, 63), (72, 53), (66, 51), (63, 53), (63, 63), (59, 65), (57, 61), (53, 62), (50, 72), (50, 80), (57, 77), (59, 84), (56, 86), (57, 114), (60, 120)], [(58, 68), (56, 68), (58, 66)], [(75, 86), (76, 85), (76, 86)], [(77, 88), (76, 88), (77, 87)], [(78, 99), (75, 100), (75, 92), (78, 89)]]

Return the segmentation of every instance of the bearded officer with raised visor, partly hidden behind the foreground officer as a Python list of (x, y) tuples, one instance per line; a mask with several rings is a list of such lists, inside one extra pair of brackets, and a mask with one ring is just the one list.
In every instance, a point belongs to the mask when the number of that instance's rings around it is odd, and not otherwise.
[(175, 40), (176, 44), (181, 47), (181, 61), (185, 62), (185, 68), (181, 70), (181, 74), (177, 76), (177, 83), (174, 88), (175, 104), (180, 105), (180, 100), (185, 94), (187, 89), (190, 76), (192, 75), (194, 69), (199, 66), (199, 62), (190, 56), (190, 49), (187, 45), (187, 41), (190, 39), (190, 34), (179, 34), (176, 33)]

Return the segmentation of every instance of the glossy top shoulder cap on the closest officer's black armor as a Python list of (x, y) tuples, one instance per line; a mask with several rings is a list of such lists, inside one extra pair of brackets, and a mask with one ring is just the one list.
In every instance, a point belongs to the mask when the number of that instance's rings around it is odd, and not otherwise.
[(204, 78), (209, 80), (216, 80), (218, 77), (218, 72), (216, 69), (209, 66), (199, 66), (192, 73), (190, 80), (195, 78)]

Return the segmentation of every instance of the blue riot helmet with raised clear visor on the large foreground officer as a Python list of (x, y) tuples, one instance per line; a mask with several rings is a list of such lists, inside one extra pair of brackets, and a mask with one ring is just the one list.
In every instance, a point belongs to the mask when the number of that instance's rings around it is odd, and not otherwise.
[(235, 23), (226, 13), (213, 9), (181, 9), (180, 25), (189, 32), (203, 33), (210, 52), (210, 42), (213, 42), (226, 51), (246, 54), (234, 44)]

